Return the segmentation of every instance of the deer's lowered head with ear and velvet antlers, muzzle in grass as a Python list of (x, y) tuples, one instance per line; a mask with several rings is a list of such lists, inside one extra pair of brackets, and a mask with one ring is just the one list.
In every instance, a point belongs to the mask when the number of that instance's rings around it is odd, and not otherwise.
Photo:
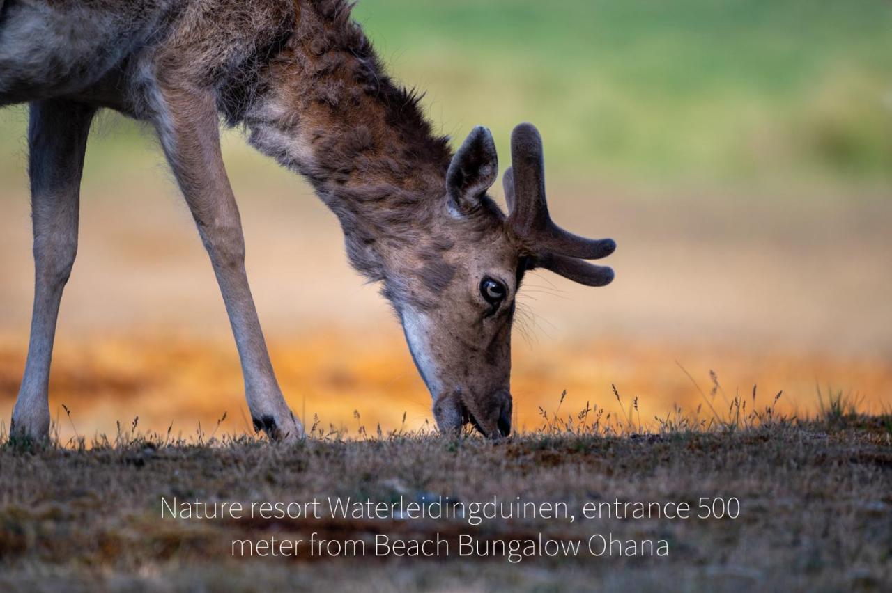
[(399, 272), (386, 274), (384, 294), (444, 433), (467, 423), (491, 437), (511, 430), (511, 324), (524, 272), (545, 268), (588, 286), (614, 278), (610, 268), (583, 261), (613, 253), (613, 240), (584, 239), (552, 222), (535, 127), (515, 128), (511, 157), (506, 217), (486, 195), (498, 175), (495, 143), (489, 130), (475, 128), (452, 158), (429, 239), (387, 266)]

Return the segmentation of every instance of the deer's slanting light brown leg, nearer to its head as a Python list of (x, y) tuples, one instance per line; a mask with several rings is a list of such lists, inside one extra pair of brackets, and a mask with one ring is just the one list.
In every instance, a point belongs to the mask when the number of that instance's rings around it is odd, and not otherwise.
[(235, 196), (220, 155), (211, 92), (160, 85), (155, 124), (161, 144), (211, 256), (242, 361), (248, 409), (270, 438), (303, 435), (278, 386), (244, 271), (244, 236)]

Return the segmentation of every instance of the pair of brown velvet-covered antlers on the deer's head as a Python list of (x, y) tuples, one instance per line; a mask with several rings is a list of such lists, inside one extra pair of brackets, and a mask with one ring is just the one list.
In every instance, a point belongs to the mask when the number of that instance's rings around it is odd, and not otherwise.
[(612, 239), (586, 239), (565, 231), (551, 220), (545, 198), (542, 139), (532, 124), (521, 124), (511, 134), (511, 167), (503, 183), (512, 232), (533, 249), (533, 265), (588, 286), (604, 286), (614, 272), (583, 262), (612, 254)]

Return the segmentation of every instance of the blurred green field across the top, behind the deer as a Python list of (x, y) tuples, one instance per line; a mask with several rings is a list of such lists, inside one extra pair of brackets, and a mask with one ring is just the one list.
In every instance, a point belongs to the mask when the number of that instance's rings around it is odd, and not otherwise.
[[(505, 161), (530, 120), (549, 171), (582, 179), (892, 182), (887, 0), (362, 0), (354, 16), (443, 133), (490, 126)], [(0, 115), (4, 150), (23, 117)], [(135, 127), (94, 150), (142, 150)]]

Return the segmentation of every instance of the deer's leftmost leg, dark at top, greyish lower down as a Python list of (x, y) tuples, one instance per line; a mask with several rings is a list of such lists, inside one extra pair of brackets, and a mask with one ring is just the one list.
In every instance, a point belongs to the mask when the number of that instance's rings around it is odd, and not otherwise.
[(28, 360), (12, 409), (14, 436), (44, 439), (50, 426), (50, 361), (62, 289), (78, 251), (80, 174), (95, 110), (76, 102), (33, 102), (29, 176), (34, 226), (34, 310)]

